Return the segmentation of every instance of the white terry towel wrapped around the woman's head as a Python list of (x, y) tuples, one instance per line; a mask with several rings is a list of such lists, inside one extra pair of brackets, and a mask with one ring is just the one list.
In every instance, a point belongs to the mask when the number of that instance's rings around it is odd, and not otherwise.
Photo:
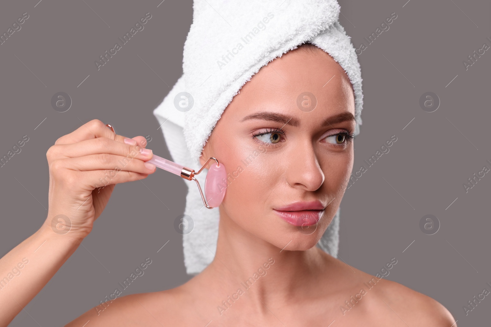
[[(171, 160), (199, 169), (199, 157), (212, 129), (246, 81), (274, 58), (306, 41), (326, 51), (350, 78), (357, 135), (362, 123), (361, 71), (350, 37), (338, 22), (339, 12), (336, 0), (194, 0), (183, 75), (154, 110), (159, 125), (163, 124)], [(196, 176), (201, 185), (206, 171)], [(219, 212), (203, 206), (194, 182), (186, 184), (184, 213), (193, 220), (194, 229), (183, 235), (184, 259), (192, 275), (214, 259)], [(318, 246), (337, 257), (338, 244), (339, 208)]]

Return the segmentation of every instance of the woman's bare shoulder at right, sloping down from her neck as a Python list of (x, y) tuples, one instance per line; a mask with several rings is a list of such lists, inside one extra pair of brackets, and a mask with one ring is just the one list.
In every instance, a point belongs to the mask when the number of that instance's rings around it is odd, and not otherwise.
[(334, 301), (341, 304), (339, 319), (345, 326), (457, 327), (448, 309), (429, 296), (321, 254), (331, 269), (323, 292), (339, 294)]

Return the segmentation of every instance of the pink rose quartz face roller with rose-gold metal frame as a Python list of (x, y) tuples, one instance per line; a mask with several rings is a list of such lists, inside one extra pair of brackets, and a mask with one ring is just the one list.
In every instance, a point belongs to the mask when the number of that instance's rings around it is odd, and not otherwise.
[[(208, 165), (208, 163), (211, 160), (215, 160), (217, 163), (210, 167), (210, 169), (208, 170), (208, 174), (206, 175), (206, 179), (205, 179), (205, 196), (207, 199), (206, 201), (205, 197), (203, 196), (203, 192), (201, 191), (201, 186), (199, 185), (198, 180), (194, 176), (201, 173), (201, 171), (205, 169), (205, 167)], [(225, 196), (225, 191), (227, 188), (226, 173), (225, 173), (225, 167), (223, 166), (223, 164), (220, 164), (216, 158), (210, 157), (208, 160), (206, 160), (203, 167), (201, 167), (197, 173), (195, 173), (193, 169), (176, 164), (175, 162), (164, 159), (155, 154), (152, 156), (152, 159), (148, 160), (147, 162), (150, 162), (161, 169), (171, 172), (172, 174), (181, 176), (184, 179), (194, 180), (196, 184), (198, 184), (198, 189), (199, 189), (199, 194), (201, 194), (201, 199), (203, 200), (203, 203), (208, 209), (218, 207), (221, 201), (223, 201), (223, 197)]]

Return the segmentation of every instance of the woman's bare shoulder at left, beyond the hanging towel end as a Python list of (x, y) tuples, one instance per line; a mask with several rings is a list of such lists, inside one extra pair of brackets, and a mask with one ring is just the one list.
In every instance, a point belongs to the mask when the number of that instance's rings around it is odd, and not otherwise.
[(175, 289), (126, 295), (91, 308), (65, 327), (162, 326), (170, 321), (176, 296)]

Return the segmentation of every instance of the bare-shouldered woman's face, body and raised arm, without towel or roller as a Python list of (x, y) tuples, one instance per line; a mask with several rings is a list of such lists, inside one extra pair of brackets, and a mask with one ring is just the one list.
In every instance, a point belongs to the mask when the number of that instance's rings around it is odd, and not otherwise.
[[(332, 75), (325, 85), (325, 76)], [(305, 85), (323, 110), (292, 106), (290, 95), (300, 94)], [(104, 312), (92, 308), (66, 326), (457, 326), (435, 300), (315, 247), (353, 168), (353, 116), (350, 80), (323, 50), (304, 44), (261, 68), (228, 105), (200, 158), (202, 164), (214, 156), (225, 167), (236, 167), (249, 153), (262, 152), (227, 188), (219, 207), (216, 259), (179, 287), (118, 297), (106, 302)], [(45, 249), (29, 261), (22, 283), (2, 291), (1, 326), (80, 246), (114, 185), (155, 171), (146, 165), (152, 152), (138, 151), (144, 142), (142, 136), (115, 135), (93, 120), (48, 150), (48, 218), (0, 260), (0, 267), (14, 265), (46, 240)], [(101, 186), (104, 170), (128, 153), (133, 159), (124, 172), (106, 187), (94, 187)], [(311, 210), (300, 216), (303, 226), (276, 211), (303, 208)], [(53, 232), (60, 213), (71, 217), (69, 233)], [(260, 277), (249, 279), (255, 273)]]

